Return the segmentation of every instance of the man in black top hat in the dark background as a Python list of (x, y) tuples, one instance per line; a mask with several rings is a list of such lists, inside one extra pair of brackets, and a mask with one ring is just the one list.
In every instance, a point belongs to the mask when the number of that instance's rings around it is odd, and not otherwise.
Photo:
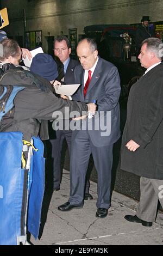
[(151, 38), (151, 33), (149, 32), (149, 16), (143, 16), (141, 19), (141, 24), (136, 30), (136, 35), (135, 35), (135, 44), (136, 44), (136, 51), (137, 53), (140, 52), (140, 47), (141, 43), (143, 40), (147, 38)]

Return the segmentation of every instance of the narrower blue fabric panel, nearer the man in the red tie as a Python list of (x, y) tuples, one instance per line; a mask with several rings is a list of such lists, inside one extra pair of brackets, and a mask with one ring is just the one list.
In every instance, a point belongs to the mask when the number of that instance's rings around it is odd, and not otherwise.
[(41, 207), (45, 188), (45, 159), (43, 158), (43, 143), (40, 138), (33, 137), (34, 147), (30, 167), (30, 194), (28, 203), (28, 231), (37, 239), (39, 236)]

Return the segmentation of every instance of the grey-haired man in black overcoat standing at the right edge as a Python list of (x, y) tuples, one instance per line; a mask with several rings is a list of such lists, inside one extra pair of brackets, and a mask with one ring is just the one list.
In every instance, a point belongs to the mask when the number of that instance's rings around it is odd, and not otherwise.
[(121, 169), (141, 176), (136, 215), (126, 215), (126, 220), (151, 227), (158, 200), (163, 206), (162, 41), (158, 38), (144, 40), (138, 58), (147, 70), (130, 90)]

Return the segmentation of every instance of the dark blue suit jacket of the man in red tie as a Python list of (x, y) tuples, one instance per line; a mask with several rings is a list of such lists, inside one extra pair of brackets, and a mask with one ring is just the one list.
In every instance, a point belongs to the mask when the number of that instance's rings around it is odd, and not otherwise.
[[(86, 103), (93, 102), (95, 99), (97, 101), (98, 113), (92, 119), (86, 119), (82, 122), (83, 128), (89, 133), (91, 142), (96, 147), (115, 143), (120, 137), (120, 108), (118, 99), (121, 87), (117, 68), (112, 63), (99, 57), (85, 98), (83, 94), (84, 69), (82, 65), (76, 67), (74, 75), (75, 82), (81, 83), (82, 86), (72, 96), (72, 99)], [(91, 122), (93, 127), (92, 130), (89, 130)], [(107, 129), (104, 128), (105, 125)]]

